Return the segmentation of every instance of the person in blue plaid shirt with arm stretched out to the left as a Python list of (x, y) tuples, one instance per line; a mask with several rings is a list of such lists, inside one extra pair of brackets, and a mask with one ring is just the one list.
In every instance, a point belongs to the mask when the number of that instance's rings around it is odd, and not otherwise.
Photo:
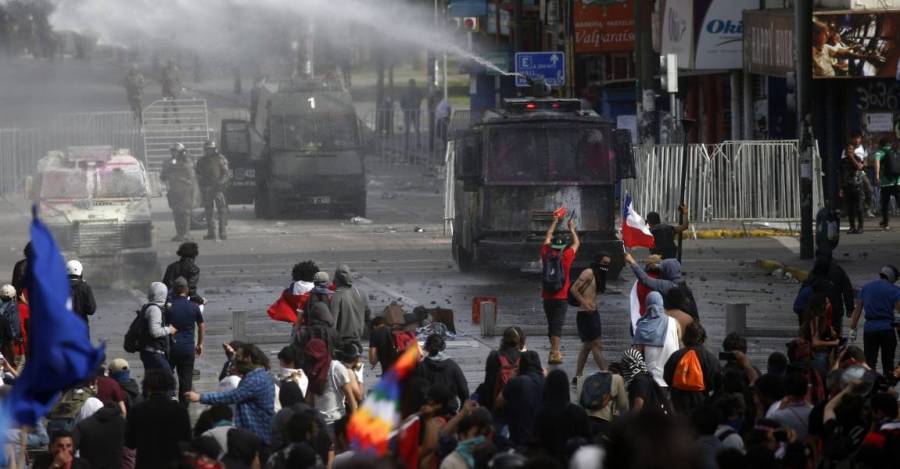
[(275, 415), (275, 387), (269, 377), (269, 358), (253, 344), (235, 350), (235, 363), (242, 375), (236, 389), (197, 394), (190, 391), (186, 400), (201, 404), (235, 405), (235, 425), (256, 434), (266, 444), (272, 440), (272, 417)]

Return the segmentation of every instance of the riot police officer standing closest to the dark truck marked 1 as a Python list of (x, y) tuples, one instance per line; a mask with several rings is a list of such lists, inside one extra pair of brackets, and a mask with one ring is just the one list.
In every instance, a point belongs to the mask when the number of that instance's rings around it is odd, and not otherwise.
[(206, 211), (207, 233), (203, 239), (216, 239), (216, 222), (213, 208), (219, 217), (219, 239), (227, 239), (225, 226), (228, 225), (228, 202), (225, 188), (228, 186), (228, 160), (216, 149), (216, 142), (207, 140), (203, 145), (203, 157), (197, 161), (197, 182), (203, 196)]

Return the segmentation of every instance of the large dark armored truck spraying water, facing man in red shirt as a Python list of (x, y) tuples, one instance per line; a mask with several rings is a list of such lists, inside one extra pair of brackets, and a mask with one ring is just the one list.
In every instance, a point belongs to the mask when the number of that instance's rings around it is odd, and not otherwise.
[(454, 205), (448, 211), (460, 270), (539, 270), (554, 210), (565, 207), (581, 238), (575, 266), (606, 252), (618, 274), (624, 259), (615, 188), (619, 179), (634, 177), (627, 130), (616, 130), (576, 99), (516, 98), (452, 138), (447, 200)]

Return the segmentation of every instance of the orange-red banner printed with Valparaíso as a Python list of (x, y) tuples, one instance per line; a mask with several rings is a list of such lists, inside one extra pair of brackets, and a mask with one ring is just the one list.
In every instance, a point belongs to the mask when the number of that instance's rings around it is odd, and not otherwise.
[(575, 0), (575, 52), (634, 50), (634, 0)]

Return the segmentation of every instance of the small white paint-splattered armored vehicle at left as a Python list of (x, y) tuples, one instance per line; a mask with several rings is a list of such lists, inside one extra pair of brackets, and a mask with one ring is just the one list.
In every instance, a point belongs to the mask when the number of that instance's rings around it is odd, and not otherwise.
[(93, 283), (158, 278), (149, 179), (128, 150), (69, 147), (41, 158), (30, 196), (67, 259)]

